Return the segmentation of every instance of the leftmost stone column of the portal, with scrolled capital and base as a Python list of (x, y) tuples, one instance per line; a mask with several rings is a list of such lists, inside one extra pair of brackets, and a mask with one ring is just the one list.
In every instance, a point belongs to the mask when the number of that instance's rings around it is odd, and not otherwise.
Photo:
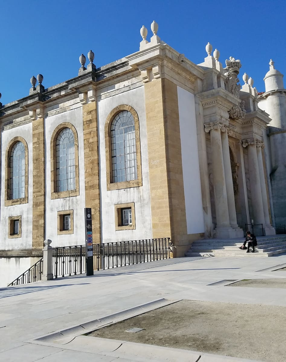
[[(212, 149), (212, 174), (214, 180), (216, 231), (218, 237), (235, 237), (235, 230), (229, 224), (227, 188), (225, 185), (225, 172), (223, 148), (221, 144), (220, 122), (207, 123), (205, 131), (210, 132)], [(233, 233), (231, 232), (233, 230)]]

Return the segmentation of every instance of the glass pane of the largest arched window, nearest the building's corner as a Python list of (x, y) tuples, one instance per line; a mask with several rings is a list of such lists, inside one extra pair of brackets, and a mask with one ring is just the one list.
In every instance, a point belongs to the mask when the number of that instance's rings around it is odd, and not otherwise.
[(111, 123), (112, 182), (137, 179), (136, 139), (133, 115), (116, 114)]

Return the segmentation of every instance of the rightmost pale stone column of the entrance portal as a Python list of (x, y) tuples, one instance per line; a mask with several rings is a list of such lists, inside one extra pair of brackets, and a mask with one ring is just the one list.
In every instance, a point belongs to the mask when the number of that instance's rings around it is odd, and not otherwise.
[(275, 230), (270, 226), (269, 219), (269, 209), (268, 209), (268, 199), (267, 199), (267, 191), (266, 191), (266, 183), (264, 176), (264, 165), (262, 160), (262, 148), (264, 148), (264, 143), (257, 141), (256, 142), (256, 150), (257, 150), (257, 161), (259, 168), (259, 177), (260, 177), (260, 187), (261, 187), (261, 195), (262, 195), (262, 204), (263, 204), (263, 212), (264, 212), (264, 220), (265, 220), (265, 235), (274, 235)]

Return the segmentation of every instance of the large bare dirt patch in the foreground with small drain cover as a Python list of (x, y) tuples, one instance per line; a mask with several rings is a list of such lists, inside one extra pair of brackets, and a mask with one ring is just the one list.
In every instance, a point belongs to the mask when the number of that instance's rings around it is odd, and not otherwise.
[(285, 307), (182, 300), (89, 336), (285, 362), (285, 323)]

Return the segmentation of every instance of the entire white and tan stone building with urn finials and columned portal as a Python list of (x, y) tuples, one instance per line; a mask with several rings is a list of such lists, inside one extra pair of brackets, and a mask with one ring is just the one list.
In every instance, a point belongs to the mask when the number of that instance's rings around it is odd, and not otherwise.
[(285, 224), (285, 89), (270, 62), (258, 94), (240, 60), (219, 51), (194, 64), (157, 35), (100, 68), (80, 56), (78, 76), (1, 105), (0, 250), (36, 253), (84, 244), (171, 237), (265, 235)]

